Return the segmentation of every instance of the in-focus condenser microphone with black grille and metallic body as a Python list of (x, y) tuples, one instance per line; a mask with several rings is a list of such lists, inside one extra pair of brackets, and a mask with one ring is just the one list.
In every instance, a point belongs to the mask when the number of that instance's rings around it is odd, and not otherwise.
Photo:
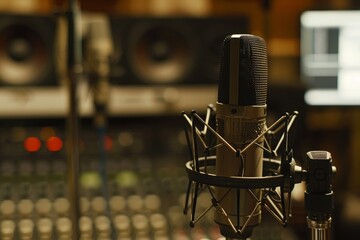
[[(225, 38), (216, 103), (216, 131), (235, 149), (245, 149), (266, 128), (267, 50), (258, 36), (234, 34)], [(225, 145), (216, 151), (216, 175), (224, 177), (262, 177), (263, 142), (259, 137), (241, 154)], [(227, 213), (215, 211), (214, 221), (226, 238), (246, 239), (261, 222), (260, 189), (216, 187), (217, 199)], [(235, 232), (230, 221), (244, 231)]]

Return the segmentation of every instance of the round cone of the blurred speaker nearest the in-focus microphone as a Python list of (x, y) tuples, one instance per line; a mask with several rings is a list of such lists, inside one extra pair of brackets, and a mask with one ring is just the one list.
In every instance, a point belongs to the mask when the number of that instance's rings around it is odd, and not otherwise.
[(177, 83), (193, 66), (195, 49), (186, 35), (170, 26), (143, 26), (129, 43), (130, 66), (148, 83)]

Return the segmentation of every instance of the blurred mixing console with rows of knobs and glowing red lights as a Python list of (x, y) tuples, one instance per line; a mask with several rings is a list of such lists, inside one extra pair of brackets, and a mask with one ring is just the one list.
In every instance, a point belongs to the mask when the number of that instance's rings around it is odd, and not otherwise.
[[(64, 126), (29, 121), (0, 129), (0, 239), (71, 239)], [(221, 237), (211, 212), (195, 228), (183, 214), (189, 157), (181, 126), (172, 117), (116, 119), (99, 144), (103, 129), (81, 124), (82, 240)], [(199, 211), (210, 205), (201, 194)], [(296, 238), (270, 223), (253, 239)]]

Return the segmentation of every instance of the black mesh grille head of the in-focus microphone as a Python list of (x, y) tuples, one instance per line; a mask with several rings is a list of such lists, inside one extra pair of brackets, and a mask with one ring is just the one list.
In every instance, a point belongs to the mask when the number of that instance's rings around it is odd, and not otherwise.
[(223, 43), (218, 102), (232, 105), (265, 105), (267, 50), (264, 39), (249, 34), (227, 36)]

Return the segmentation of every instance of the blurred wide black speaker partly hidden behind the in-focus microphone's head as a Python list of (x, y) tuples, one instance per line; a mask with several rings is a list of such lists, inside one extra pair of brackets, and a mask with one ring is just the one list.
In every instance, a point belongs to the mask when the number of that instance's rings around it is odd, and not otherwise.
[(119, 85), (217, 83), (229, 34), (248, 33), (246, 17), (114, 17), (111, 81)]

